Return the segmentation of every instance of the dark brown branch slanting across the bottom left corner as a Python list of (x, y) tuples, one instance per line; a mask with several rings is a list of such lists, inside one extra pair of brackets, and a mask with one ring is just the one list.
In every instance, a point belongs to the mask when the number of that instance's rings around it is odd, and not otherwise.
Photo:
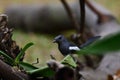
[(28, 75), (20, 71), (16, 71), (2, 60), (0, 60), (0, 76), (4, 80), (31, 80)]

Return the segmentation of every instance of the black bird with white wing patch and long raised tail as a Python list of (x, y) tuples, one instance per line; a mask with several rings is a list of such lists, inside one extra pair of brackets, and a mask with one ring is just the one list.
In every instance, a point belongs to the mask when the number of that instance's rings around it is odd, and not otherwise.
[(72, 54), (74, 51), (79, 51), (81, 47), (94, 42), (98, 38), (100, 38), (100, 36), (93, 37), (80, 47), (69, 42), (63, 35), (58, 35), (57, 37), (55, 37), (53, 42), (58, 44), (58, 49), (64, 56), (66, 56), (68, 54)]

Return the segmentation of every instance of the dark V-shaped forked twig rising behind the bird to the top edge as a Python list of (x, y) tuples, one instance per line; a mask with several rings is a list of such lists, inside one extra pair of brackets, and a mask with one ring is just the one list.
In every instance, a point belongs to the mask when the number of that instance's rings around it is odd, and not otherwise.
[[(85, 42), (86, 40), (84, 39), (84, 28), (85, 28), (85, 1), (84, 0), (79, 0), (80, 2), (80, 8), (81, 8), (81, 25), (79, 25), (79, 23), (77, 22), (77, 20), (75, 19), (75, 16), (73, 14), (73, 12), (71, 11), (69, 5), (67, 4), (66, 0), (61, 0), (64, 8), (66, 9), (68, 16), (71, 20), (71, 22), (73, 23), (77, 34), (74, 34), (72, 36), (74, 36), (74, 40), (76, 40), (79, 44)], [(81, 26), (81, 27), (80, 27)], [(81, 39), (81, 40), (80, 40)]]

